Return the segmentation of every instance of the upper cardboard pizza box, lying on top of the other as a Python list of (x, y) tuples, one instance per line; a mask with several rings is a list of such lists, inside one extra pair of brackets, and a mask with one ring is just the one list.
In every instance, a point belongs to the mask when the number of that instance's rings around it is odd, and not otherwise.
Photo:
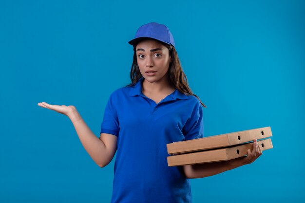
[(270, 127), (250, 129), (239, 132), (215, 135), (199, 139), (174, 142), (167, 144), (169, 154), (186, 153), (191, 151), (206, 150), (211, 148), (229, 147), (245, 142), (251, 142), (254, 139), (265, 139), (271, 137)]

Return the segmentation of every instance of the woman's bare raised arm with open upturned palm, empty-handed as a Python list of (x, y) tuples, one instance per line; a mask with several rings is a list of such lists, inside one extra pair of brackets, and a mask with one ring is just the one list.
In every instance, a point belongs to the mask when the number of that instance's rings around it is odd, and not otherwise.
[(76, 129), (81, 144), (98, 166), (104, 167), (111, 162), (116, 151), (116, 136), (101, 133), (97, 138), (74, 106), (50, 105), (45, 102), (38, 103), (38, 106), (67, 115)]

